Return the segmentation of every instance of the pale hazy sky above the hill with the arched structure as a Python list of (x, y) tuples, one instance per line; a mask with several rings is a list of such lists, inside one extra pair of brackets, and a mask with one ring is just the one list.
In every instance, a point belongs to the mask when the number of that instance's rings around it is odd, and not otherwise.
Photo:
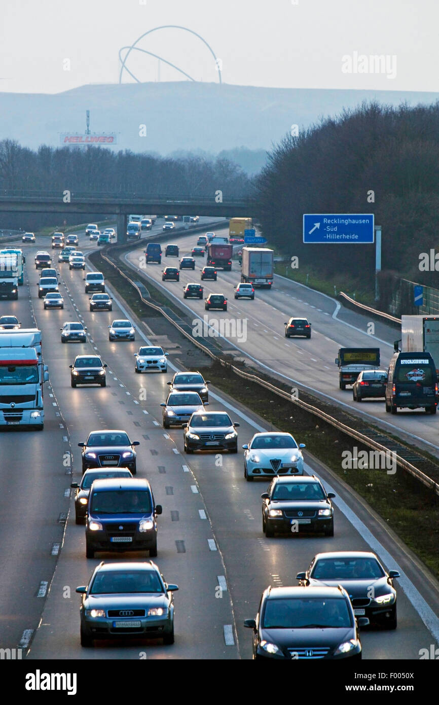
[[(119, 49), (159, 25), (204, 37), (228, 83), (439, 90), (439, 0), (1, 0), (0, 11), (0, 91), (116, 83)], [(138, 46), (218, 81), (209, 50), (188, 32), (161, 30)], [(385, 59), (378, 66), (371, 55)], [(140, 51), (127, 62), (141, 81), (158, 80), (158, 64)], [(163, 63), (160, 79), (187, 80)]]

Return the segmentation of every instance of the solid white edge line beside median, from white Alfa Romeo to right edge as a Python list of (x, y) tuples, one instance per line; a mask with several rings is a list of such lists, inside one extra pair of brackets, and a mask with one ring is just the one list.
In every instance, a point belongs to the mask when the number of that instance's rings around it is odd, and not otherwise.
[[(319, 477), (321, 482), (323, 482), (323, 484), (325, 485), (325, 489), (327, 492), (335, 492), (333, 487), (331, 487), (328, 482), (323, 480), (319, 476), (319, 473), (316, 472), (316, 470), (312, 470), (311, 467), (307, 465), (307, 463), (304, 463), (304, 469), (307, 471), (308, 474), (314, 474), (316, 475), (316, 477)], [(359, 519), (359, 517), (357, 517), (357, 515), (352, 511), (352, 509), (347, 506), (345, 501), (343, 501), (340, 497), (337, 497), (334, 500), (334, 503), (338, 507), (340, 512), (345, 515), (348, 522), (350, 522), (354, 529), (357, 530), (361, 538), (366, 541), (366, 544), (369, 544), (372, 551), (374, 551), (381, 558), (384, 565), (387, 565), (388, 567), (392, 568), (392, 570), (398, 570), (400, 572), (401, 577), (398, 578), (398, 585), (407, 595), (409, 603), (412, 604), (416, 612), (419, 614), (421, 620), (426, 625), (428, 631), (431, 632), (436, 642), (439, 642), (438, 615), (435, 615), (426, 600), (423, 599), (423, 596), (421, 595), (419, 590), (416, 589), (412, 581), (409, 580), (406, 575), (404, 575), (404, 571), (402, 570), (400, 565), (397, 564), (396, 560), (392, 558), (390, 553), (384, 548), (384, 546), (381, 545), (378, 539), (373, 536), (372, 532), (366, 527), (366, 525), (361, 521), (361, 519)]]

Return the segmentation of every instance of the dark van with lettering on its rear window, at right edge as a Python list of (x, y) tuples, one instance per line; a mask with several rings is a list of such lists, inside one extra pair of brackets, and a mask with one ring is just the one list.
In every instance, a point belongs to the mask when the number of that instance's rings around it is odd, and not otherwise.
[(418, 409), (435, 414), (438, 405), (438, 377), (430, 353), (395, 353), (390, 360), (385, 388), (385, 410)]

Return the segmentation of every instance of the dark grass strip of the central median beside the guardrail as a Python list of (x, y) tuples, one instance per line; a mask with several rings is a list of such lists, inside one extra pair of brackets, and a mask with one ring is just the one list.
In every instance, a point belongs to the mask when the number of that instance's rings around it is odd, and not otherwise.
[[(101, 259), (100, 252), (92, 255), (91, 259), (132, 310), (140, 318), (147, 317), (149, 326), (154, 329), (154, 318), (160, 314), (140, 302), (137, 292)], [(154, 287), (148, 284), (148, 288), (155, 298)], [(162, 301), (159, 301), (159, 298)], [(169, 305), (163, 294), (157, 294), (156, 302)], [(170, 329), (168, 334), (172, 337), (173, 329)], [(175, 335), (178, 336), (179, 333), (175, 331)], [(197, 369), (218, 389), (254, 410), (268, 424), (280, 431), (289, 431), (298, 443), (306, 443), (314, 457), (330, 467), (338, 477), (357, 491), (416, 556), (419, 556), (433, 575), (439, 578), (439, 498), (432, 491), (428, 491), (400, 469), (397, 469), (395, 474), (387, 474), (386, 470), (344, 470), (343, 450), (352, 450), (353, 446), (357, 446), (358, 450), (369, 448), (352, 441), (349, 436), (340, 433), (330, 424), (258, 384), (240, 378), (221, 364), (210, 363), (208, 357), (206, 367), (200, 368), (198, 364)], [(275, 384), (282, 386), (278, 382)], [(328, 407), (325, 406), (324, 410), (330, 413)], [(352, 427), (356, 420), (353, 419)], [(305, 450), (305, 459), (306, 455)]]

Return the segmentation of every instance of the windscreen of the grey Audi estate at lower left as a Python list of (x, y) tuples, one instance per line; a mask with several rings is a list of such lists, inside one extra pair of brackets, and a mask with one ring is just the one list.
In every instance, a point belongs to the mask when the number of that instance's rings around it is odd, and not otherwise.
[(99, 570), (90, 589), (91, 595), (164, 593), (155, 570)]

